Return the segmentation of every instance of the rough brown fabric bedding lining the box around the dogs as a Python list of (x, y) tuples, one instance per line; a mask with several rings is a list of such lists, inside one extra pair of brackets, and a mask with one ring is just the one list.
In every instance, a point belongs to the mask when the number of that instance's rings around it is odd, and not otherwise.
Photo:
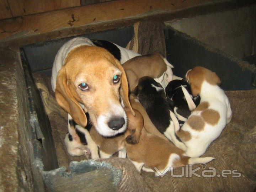
[[(134, 29), (135, 35), (127, 48), (140, 54), (158, 51), (166, 55), (162, 23), (148, 21), (136, 23)], [(68, 168), (71, 161), (86, 159), (85, 156), (72, 157), (66, 150), (64, 138), (68, 132), (67, 113), (55, 101), (50, 86), (50, 77), (39, 73), (34, 73), (33, 77), (50, 120), (59, 166)], [(186, 174), (183, 177), (173, 177), (171, 172), (167, 172), (162, 178), (154, 177), (152, 172), (142, 171), (140, 175), (128, 159), (114, 157), (98, 161), (110, 162), (113, 166), (122, 170), (122, 180), (119, 184), (120, 191), (255, 191), (256, 90), (227, 91), (226, 94), (230, 100), (233, 117), (220, 137), (209, 146), (203, 155), (212, 156), (216, 159), (207, 165), (192, 166), (193, 170), (199, 169), (196, 174), (201, 177), (195, 175), (190, 177), (188, 171), (185, 171), (185, 173), (188, 173), (188, 177), (186, 177)], [(215, 177), (202, 177), (202, 171), (209, 170), (209, 167), (214, 167), (216, 172), (214, 173), (212, 168), (210, 170), (212, 172), (206, 173), (206, 175), (215, 175)], [(231, 175), (218, 177), (217, 175), (221, 174), (223, 170), (231, 170)], [(234, 172), (234, 170), (236, 171)], [(174, 171), (175, 175), (181, 173), (182, 168)], [(232, 175), (238, 176), (238, 173), (241, 174), (240, 177), (232, 177)]]

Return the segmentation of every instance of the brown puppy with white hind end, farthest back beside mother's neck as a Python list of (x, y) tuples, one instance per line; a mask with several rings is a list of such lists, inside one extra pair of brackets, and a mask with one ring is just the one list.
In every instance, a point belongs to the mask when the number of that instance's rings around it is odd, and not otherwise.
[[(150, 76), (163, 87), (173, 78), (172, 66), (164, 56), (158, 52), (148, 55), (136, 56), (123, 64), (126, 72), (129, 90), (133, 91), (139, 79)], [(166, 76), (166, 78), (165, 78)]]

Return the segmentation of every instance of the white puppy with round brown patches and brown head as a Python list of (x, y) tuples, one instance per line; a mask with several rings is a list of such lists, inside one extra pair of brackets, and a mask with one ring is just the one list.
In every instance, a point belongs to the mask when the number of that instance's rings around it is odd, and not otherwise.
[[(220, 89), (220, 79), (212, 71), (197, 66), (189, 70), (186, 79), (191, 86), (193, 97), (200, 96), (201, 101), (187, 121), (176, 134), (185, 144), (186, 155), (199, 157), (208, 148), (231, 120), (231, 108), (228, 97)], [(173, 136), (175, 145), (181, 145)]]

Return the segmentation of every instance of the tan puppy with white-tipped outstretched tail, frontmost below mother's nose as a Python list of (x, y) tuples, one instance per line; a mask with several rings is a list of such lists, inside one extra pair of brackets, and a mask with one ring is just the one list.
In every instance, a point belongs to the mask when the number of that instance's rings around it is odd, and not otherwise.
[[(164, 176), (168, 167), (182, 167), (186, 164), (207, 163), (214, 158), (190, 158), (184, 151), (156, 135), (150, 134), (143, 126), (143, 117), (134, 110), (135, 116), (126, 108), (128, 129), (124, 133), (127, 157), (137, 170), (155, 172), (155, 176)], [(144, 168), (143, 168), (144, 167)]]

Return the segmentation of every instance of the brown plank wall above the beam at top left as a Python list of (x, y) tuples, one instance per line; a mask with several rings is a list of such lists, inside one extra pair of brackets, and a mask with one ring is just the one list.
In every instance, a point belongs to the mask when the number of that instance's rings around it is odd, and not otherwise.
[(110, 0), (0, 0), (0, 20)]

